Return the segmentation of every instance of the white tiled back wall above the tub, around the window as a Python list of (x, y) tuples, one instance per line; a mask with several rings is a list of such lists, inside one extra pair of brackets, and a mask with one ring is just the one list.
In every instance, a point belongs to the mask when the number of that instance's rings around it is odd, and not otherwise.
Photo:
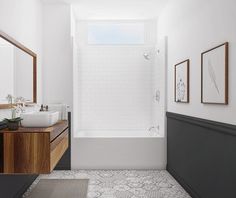
[(147, 130), (154, 58), (143, 54), (154, 51), (156, 22), (145, 21), (147, 43), (137, 46), (88, 45), (89, 22), (77, 23), (79, 130)]

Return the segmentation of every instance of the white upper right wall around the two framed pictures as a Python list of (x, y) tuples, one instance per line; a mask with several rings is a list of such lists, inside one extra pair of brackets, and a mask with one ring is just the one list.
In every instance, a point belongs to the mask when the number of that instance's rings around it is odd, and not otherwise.
[[(168, 111), (236, 124), (236, 1), (171, 0), (159, 18), (168, 36)], [(229, 105), (201, 104), (201, 52), (229, 42)], [(190, 59), (190, 103), (174, 102), (174, 65)]]

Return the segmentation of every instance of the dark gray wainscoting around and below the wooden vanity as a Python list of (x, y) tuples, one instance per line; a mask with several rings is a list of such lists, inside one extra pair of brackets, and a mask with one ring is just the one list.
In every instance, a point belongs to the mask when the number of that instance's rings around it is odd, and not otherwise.
[[(55, 170), (71, 169), (71, 113), (68, 113), (69, 148), (58, 162)], [(0, 129), (6, 128), (6, 123), (0, 122)], [(3, 167), (2, 146), (3, 137), (0, 135), (0, 168)], [(34, 182), (38, 175), (4, 175), (0, 174), (0, 198), (21, 198), (24, 192)]]

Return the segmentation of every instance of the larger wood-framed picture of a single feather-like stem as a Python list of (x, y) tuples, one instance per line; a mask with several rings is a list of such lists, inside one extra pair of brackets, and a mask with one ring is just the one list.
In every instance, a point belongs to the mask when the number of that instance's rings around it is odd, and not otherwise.
[(201, 102), (228, 104), (228, 42), (201, 55)]

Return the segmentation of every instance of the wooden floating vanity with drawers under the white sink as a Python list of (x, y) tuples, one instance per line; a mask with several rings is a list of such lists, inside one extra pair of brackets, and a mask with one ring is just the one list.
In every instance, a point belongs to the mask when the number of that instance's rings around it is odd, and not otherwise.
[(0, 130), (2, 158), (0, 171), (6, 174), (50, 173), (68, 148), (68, 122), (48, 128)]

